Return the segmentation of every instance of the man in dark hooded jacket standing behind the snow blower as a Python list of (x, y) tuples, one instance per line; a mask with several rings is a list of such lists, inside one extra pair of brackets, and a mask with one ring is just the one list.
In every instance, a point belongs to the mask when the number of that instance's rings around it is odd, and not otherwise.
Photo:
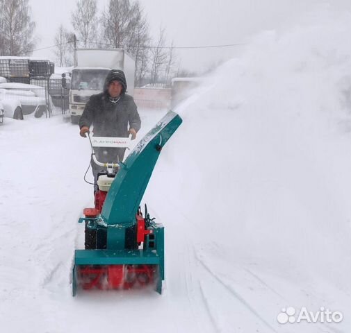
[[(90, 96), (79, 121), (80, 135), (86, 137), (90, 126), (97, 137), (129, 137), (136, 139), (140, 130), (140, 116), (132, 96), (126, 94), (126, 77), (119, 69), (111, 69), (104, 83), (104, 91)], [(96, 148), (100, 162), (122, 162), (125, 148)], [(92, 160), (94, 190), (97, 191), (97, 174), (101, 171)]]

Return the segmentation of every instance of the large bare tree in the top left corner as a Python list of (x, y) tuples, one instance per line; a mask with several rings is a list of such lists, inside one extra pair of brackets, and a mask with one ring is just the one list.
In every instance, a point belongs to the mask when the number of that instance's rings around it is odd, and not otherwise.
[(35, 46), (28, 0), (0, 0), (0, 56), (28, 56)]

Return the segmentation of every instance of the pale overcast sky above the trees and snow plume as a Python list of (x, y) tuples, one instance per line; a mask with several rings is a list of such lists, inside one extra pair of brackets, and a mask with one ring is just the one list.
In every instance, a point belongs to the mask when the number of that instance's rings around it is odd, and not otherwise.
[[(29, 0), (37, 48), (54, 44), (54, 35), (62, 23), (72, 29), (70, 12), (74, 0)], [(203, 46), (245, 43), (262, 30), (280, 31), (300, 15), (330, 3), (332, 9), (351, 11), (351, 0), (140, 0), (149, 19), (152, 37), (160, 26), (165, 28), (168, 44)], [(97, 0), (100, 11), (108, 0)], [(202, 70), (220, 60), (240, 53), (242, 46), (220, 49), (177, 50), (181, 67)], [(52, 49), (35, 51), (33, 56), (54, 59)]]

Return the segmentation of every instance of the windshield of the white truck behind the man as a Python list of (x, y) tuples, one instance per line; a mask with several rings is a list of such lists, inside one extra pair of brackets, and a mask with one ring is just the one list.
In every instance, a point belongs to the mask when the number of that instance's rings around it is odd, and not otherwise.
[(108, 71), (108, 69), (73, 69), (71, 89), (102, 91)]

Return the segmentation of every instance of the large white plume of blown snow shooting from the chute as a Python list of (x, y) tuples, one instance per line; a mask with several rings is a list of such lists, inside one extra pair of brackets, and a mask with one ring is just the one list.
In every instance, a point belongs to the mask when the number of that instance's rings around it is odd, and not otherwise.
[(349, 12), (327, 11), (265, 31), (176, 110), (149, 191), (172, 189), (195, 244), (350, 293), (350, 31)]

